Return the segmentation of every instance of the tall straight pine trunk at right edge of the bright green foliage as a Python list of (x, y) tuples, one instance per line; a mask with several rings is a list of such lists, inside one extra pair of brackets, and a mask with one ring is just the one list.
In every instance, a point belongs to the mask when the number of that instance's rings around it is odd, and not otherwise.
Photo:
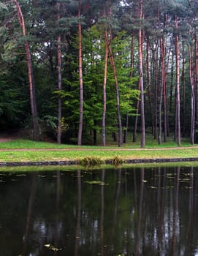
[[(142, 0), (140, 0), (140, 25), (142, 25)], [(139, 53), (139, 72), (140, 72), (140, 99), (141, 99), (141, 148), (145, 147), (145, 102), (144, 102), (144, 82), (143, 82), (143, 53), (142, 53), (142, 28), (138, 33), (138, 53)]]

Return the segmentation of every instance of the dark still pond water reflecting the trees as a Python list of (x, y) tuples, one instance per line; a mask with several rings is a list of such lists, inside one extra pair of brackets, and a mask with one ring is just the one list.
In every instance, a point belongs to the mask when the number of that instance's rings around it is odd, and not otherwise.
[(198, 255), (198, 167), (0, 171), (0, 255)]

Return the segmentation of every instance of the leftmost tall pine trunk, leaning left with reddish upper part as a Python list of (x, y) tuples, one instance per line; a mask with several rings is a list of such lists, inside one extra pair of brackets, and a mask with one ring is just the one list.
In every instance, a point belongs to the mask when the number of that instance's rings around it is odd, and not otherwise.
[[(21, 11), (20, 5), (18, 4), (17, 0), (13, 0), (18, 12), (18, 21), (20, 23), (21, 29), (23, 30), (23, 37), (27, 36), (26, 33), (26, 26), (23, 18), (23, 12)], [(29, 43), (25, 42), (25, 49), (26, 49), (26, 59), (28, 64), (28, 80), (29, 80), (29, 92), (30, 92), (30, 102), (31, 102), (31, 116), (33, 122), (33, 139), (39, 140), (40, 129), (39, 129), (39, 121), (38, 121), (38, 114), (37, 114), (37, 102), (35, 96), (35, 86), (34, 86), (34, 75), (33, 75), (33, 67), (31, 61), (31, 52)]]

